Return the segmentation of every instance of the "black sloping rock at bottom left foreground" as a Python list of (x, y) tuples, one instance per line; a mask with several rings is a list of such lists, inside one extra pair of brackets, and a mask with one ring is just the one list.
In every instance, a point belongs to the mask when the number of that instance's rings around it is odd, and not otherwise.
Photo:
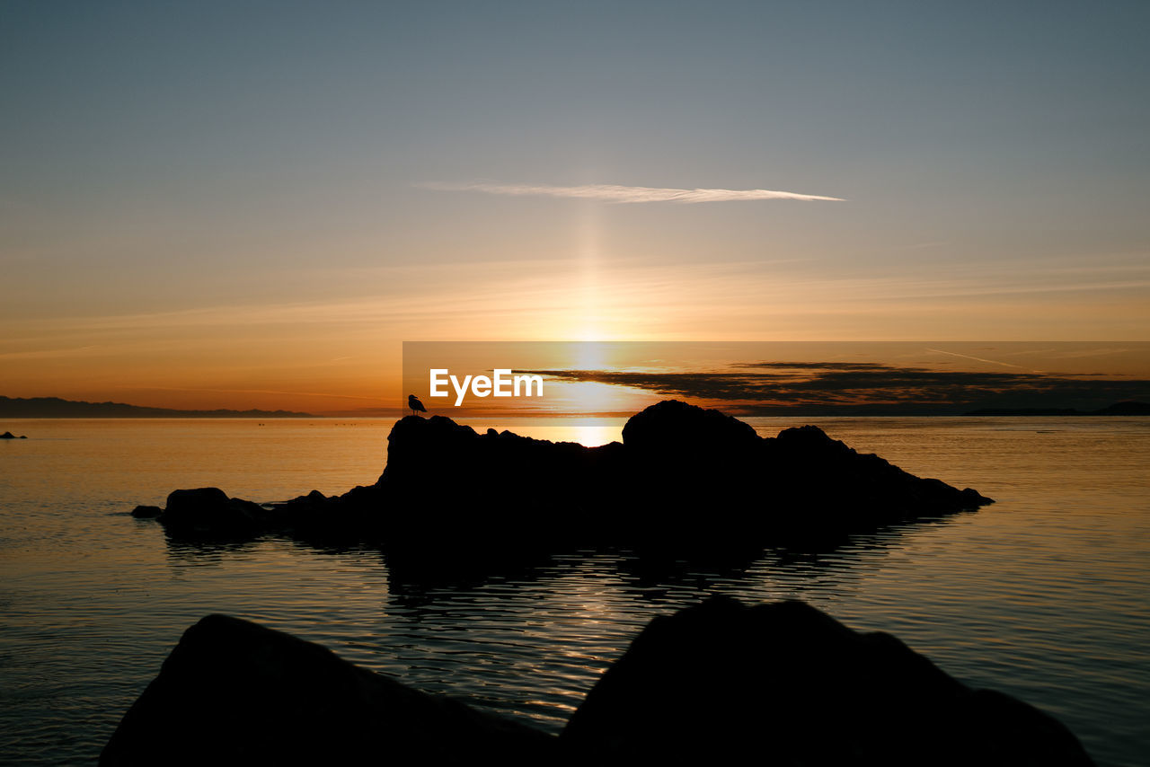
[(222, 615), (184, 632), (100, 765), (549, 764), (557, 738)]

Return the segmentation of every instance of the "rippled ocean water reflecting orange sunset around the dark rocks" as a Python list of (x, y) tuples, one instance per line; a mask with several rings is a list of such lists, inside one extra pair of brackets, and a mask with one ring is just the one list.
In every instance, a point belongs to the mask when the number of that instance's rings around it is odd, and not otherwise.
[[(752, 419), (761, 432), (807, 420)], [(222, 612), (558, 731), (653, 615), (710, 593), (805, 599), (1064, 721), (1099, 765), (1150, 761), (1150, 419), (818, 419), (833, 437), (997, 499), (976, 513), (652, 574), (627, 552), (412, 583), (370, 550), (186, 546), (136, 504), (216, 485), (281, 500), (368, 484), (390, 421), (0, 424), (0, 761), (90, 764), (182, 631)], [(532, 422), (536, 423), (536, 422)], [(509, 425), (588, 444), (621, 422)]]

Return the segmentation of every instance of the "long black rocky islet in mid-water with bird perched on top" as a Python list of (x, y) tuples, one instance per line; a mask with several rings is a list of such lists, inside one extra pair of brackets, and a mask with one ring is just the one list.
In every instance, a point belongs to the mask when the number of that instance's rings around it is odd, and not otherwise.
[(492, 554), (565, 546), (714, 550), (842, 537), (991, 500), (859, 454), (815, 427), (775, 438), (718, 411), (668, 400), (600, 447), (443, 416), (396, 423), (375, 485), (274, 507), (217, 489), (177, 491), (160, 521), (177, 535), (352, 537), (390, 551)]

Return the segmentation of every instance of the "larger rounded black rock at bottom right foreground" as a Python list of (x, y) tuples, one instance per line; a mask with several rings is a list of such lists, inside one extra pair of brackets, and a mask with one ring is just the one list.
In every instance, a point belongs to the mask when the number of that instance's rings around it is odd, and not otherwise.
[(560, 736), (586, 764), (1084, 766), (1058, 721), (803, 603), (657, 618)]

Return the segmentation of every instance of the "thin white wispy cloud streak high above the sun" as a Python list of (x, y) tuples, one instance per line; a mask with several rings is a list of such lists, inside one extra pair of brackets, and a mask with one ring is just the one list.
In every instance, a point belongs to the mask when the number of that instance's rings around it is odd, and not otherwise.
[(601, 202), (734, 202), (742, 200), (804, 200), (843, 202), (839, 197), (779, 192), (769, 189), (657, 189), (651, 186), (620, 186), (618, 184), (584, 184), (582, 186), (550, 186), (545, 184), (497, 184), (489, 182), (431, 182), (424, 189), (445, 192), (486, 192), (519, 197), (564, 197)]

